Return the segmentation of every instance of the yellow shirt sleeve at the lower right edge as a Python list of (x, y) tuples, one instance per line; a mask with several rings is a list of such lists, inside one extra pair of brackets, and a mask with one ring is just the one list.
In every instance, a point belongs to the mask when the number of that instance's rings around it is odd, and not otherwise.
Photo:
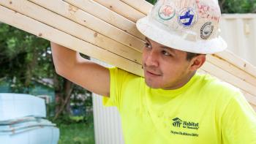
[(222, 115), (223, 143), (256, 144), (256, 113), (238, 91)]

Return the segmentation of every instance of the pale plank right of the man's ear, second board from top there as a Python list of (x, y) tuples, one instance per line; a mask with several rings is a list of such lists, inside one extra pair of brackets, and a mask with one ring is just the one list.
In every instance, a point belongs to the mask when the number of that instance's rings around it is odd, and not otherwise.
[(241, 69), (238, 69), (238, 67), (235, 67), (233, 64), (228, 63), (224, 59), (221, 59), (221, 58), (218, 58), (218, 57), (212, 56), (212, 55), (206, 56), (206, 59), (211, 64), (214, 64), (216, 67), (219, 67), (220, 69), (223, 69), (226, 72), (229, 72), (230, 74), (241, 78), (241, 80), (244, 80), (247, 83), (250, 83), (252, 86), (256, 86), (256, 78), (255, 77), (253, 77), (252, 75), (249, 75), (247, 72), (244, 72)]

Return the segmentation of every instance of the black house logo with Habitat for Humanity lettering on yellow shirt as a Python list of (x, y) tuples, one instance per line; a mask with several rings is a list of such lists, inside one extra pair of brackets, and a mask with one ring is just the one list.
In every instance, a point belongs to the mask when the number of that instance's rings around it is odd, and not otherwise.
[(173, 126), (185, 129), (199, 129), (199, 124), (192, 121), (182, 121), (180, 118), (173, 118)]

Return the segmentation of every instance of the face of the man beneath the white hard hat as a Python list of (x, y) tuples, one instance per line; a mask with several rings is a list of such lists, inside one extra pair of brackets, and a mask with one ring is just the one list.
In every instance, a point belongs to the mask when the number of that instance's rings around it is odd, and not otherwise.
[(146, 38), (143, 48), (143, 69), (146, 84), (151, 88), (175, 89), (189, 80), (190, 61), (187, 53), (167, 48)]

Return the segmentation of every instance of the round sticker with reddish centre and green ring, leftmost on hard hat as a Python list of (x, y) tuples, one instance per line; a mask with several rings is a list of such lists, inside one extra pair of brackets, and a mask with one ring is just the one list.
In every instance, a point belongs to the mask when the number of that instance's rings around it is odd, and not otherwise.
[(158, 10), (159, 18), (162, 20), (170, 20), (172, 19), (176, 14), (176, 10), (167, 4), (162, 5)]

